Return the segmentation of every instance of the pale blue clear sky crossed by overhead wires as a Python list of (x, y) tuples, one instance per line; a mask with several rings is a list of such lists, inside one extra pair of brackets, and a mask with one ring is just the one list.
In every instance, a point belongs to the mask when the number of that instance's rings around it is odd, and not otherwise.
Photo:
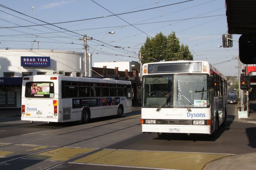
[(225, 0), (0, 0), (0, 49), (83, 53), (86, 35), (93, 63), (139, 61), (147, 37), (175, 32), (194, 60), (238, 76), (238, 42), (218, 47), (227, 30)]

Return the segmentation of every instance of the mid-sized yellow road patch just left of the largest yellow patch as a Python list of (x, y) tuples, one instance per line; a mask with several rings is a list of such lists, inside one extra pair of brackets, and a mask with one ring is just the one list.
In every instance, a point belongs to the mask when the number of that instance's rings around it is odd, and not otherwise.
[(70, 148), (63, 147), (54, 149), (48, 152), (43, 152), (37, 155), (30, 156), (28, 158), (36, 158), (36, 159), (49, 159), (56, 161), (66, 161), (68, 159), (74, 158), (77, 155), (81, 155), (86, 152), (94, 151), (95, 149), (91, 148)]

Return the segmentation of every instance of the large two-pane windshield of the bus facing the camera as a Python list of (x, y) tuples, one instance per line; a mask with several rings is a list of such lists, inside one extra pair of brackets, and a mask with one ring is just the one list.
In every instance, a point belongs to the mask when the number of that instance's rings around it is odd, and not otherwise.
[(207, 75), (154, 75), (143, 81), (145, 107), (159, 107), (166, 99), (163, 107), (210, 106)]

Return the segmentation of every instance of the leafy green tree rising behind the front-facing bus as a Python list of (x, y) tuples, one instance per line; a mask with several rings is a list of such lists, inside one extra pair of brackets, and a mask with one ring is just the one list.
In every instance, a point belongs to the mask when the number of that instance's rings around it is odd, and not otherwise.
[(193, 60), (193, 55), (188, 49), (188, 45), (179, 45), (179, 39), (175, 33), (164, 36), (157, 34), (154, 38), (148, 38), (140, 48), (142, 63), (174, 60)]

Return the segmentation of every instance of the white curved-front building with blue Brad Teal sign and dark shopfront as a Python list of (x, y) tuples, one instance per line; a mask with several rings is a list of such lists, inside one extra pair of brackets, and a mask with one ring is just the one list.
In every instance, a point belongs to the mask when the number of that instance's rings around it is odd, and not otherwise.
[(83, 53), (48, 50), (0, 50), (0, 107), (21, 107), (22, 77), (83, 76)]

